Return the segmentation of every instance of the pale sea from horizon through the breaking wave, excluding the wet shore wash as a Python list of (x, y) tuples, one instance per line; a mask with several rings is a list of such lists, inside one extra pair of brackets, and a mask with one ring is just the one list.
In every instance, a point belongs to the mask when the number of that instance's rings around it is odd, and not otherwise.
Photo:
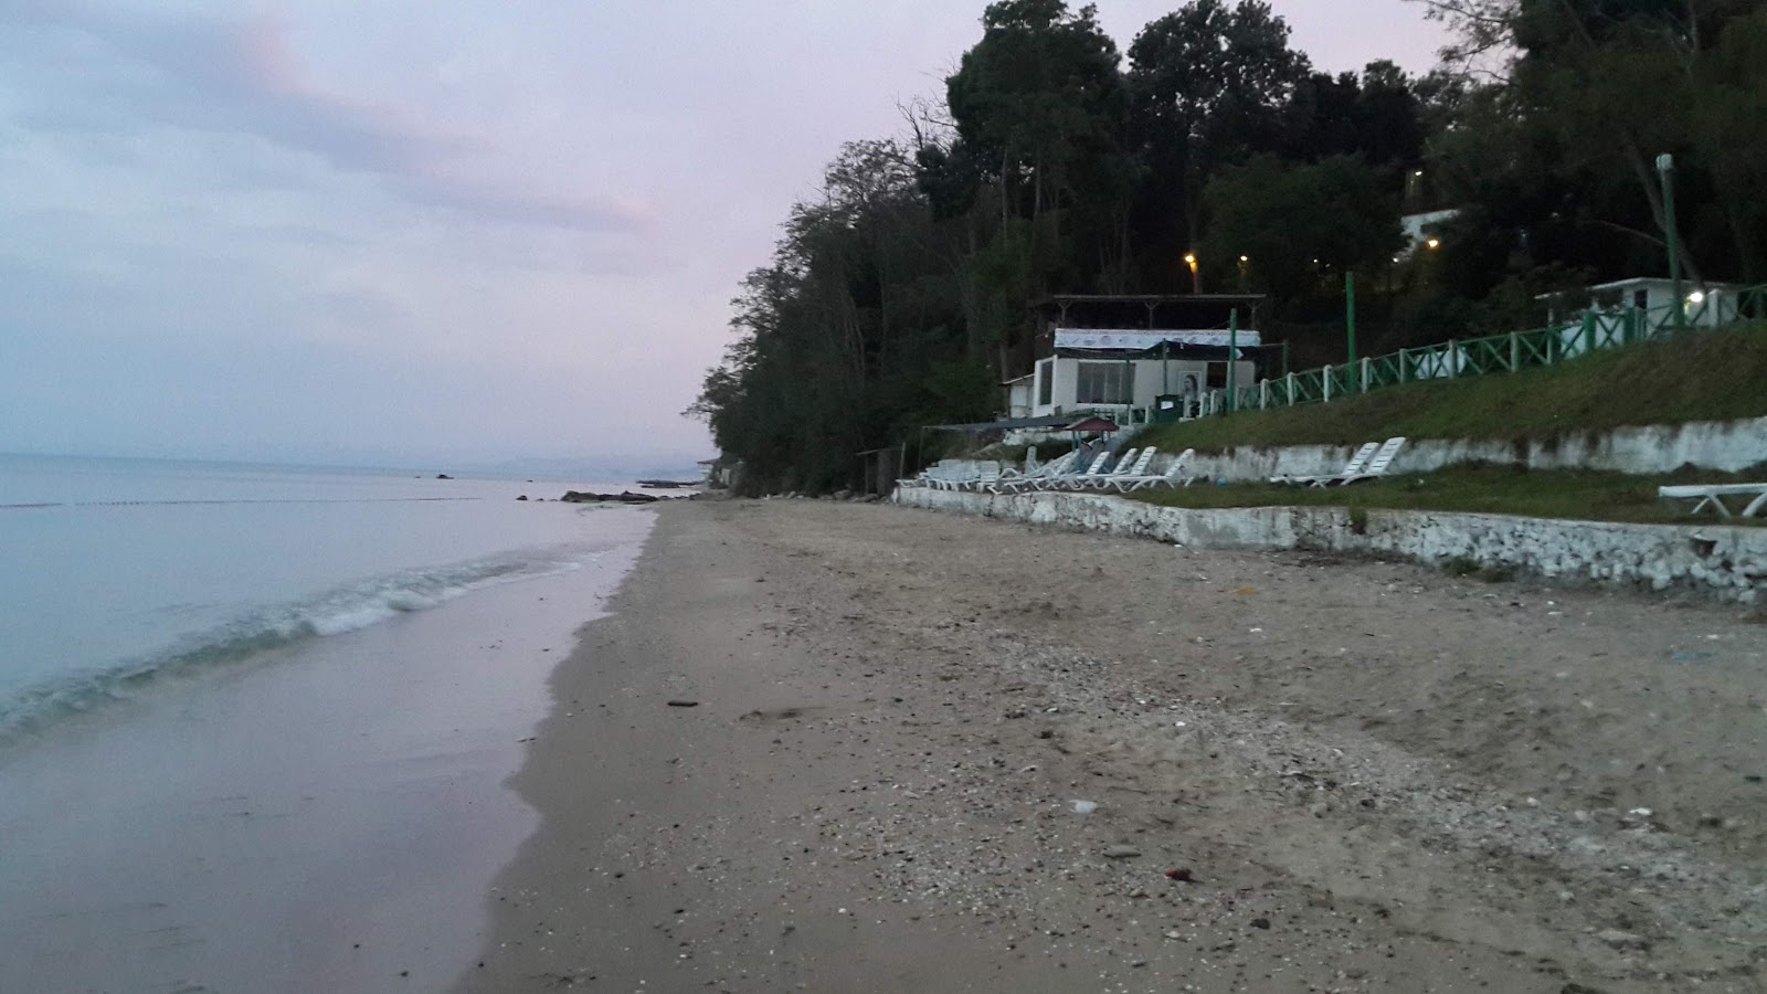
[(0, 456), (0, 745), (168, 677), (578, 570), (610, 547), (608, 518), (516, 502), (565, 488)]

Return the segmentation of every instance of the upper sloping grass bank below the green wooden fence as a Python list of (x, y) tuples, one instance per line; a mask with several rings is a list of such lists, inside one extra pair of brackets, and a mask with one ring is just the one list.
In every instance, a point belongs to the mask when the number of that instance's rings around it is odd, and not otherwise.
[(1521, 440), (1624, 424), (1762, 416), (1767, 416), (1767, 324), (1751, 324), (1691, 331), (1544, 370), (1408, 384), (1332, 403), (1154, 424), (1131, 444), (1170, 453), (1191, 447), (1223, 453), (1246, 446), (1343, 446), (1392, 435)]

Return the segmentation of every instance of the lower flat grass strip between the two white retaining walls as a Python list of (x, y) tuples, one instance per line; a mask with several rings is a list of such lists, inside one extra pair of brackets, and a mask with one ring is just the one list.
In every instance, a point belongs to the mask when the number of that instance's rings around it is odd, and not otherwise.
[[(1225, 419), (1223, 419), (1225, 421)], [(1527, 470), (1484, 463), (1458, 465), (1430, 474), (1396, 474), (1354, 486), (1272, 486), (1196, 483), (1179, 490), (1140, 490), (1136, 501), (1172, 508), (1327, 506), (1422, 511), (1470, 511), (1642, 524), (1718, 524), (1710, 511), (1687, 515), (1689, 504), (1657, 499), (1656, 488), (1677, 483), (1767, 483), (1763, 474), (1672, 472), (1627, 476), (1589, 470)], [(1735, 502), (1735, 499), (1732, 499)], [(1723, 524), (1767, 527), (1767, 518), (1730, 518)]]

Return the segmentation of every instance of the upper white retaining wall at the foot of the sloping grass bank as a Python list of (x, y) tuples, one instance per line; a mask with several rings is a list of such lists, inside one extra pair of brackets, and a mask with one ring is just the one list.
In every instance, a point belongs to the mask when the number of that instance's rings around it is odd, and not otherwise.
[[(1193, 465), (1209, 479), (1239, 483), (1272, 476), (1334, 474), (1354, 453), (1355, 446), (1246, 447), (1196, 456)], [(1693, 463), (1700, 469), (1737, 472), (1767, 462), (1767, 417), (1567, 432), (1551, 440), (1414, 440), (1399, 451), (1392, 472), (1431, 472), (1465, 462), (1634, 474), (1670, 472)]]

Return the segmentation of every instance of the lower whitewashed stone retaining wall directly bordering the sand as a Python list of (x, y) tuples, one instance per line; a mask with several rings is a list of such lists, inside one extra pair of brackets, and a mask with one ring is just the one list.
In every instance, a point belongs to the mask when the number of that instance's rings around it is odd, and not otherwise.
[(1767, 529), (1620, 525), (1505, 515), (1345, 508), (1161, 508), (1092, 493), (961, 493), (898, 488), (912, 508), (1172, 541), (1191, 548), (1387, 554), (1461, 559), (1558, 580), (1689, 589), (1758, 603), (1767, 589)]

